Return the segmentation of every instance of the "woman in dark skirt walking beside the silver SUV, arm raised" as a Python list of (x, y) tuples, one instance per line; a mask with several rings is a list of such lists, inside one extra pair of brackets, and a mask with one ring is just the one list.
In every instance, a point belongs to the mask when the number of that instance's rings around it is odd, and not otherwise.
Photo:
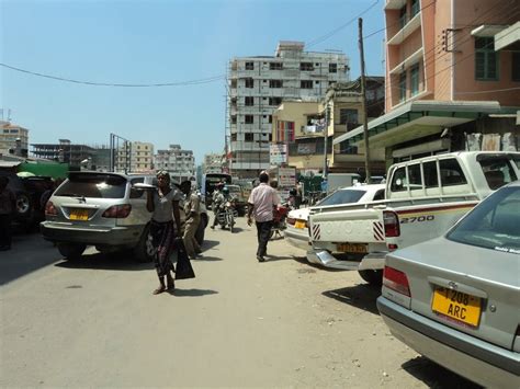
[[(159, 276), (159, 287), (154, 290), (158, 295), (165, 290), (173, 290), (174, 282), (171, 275), (174, 272), (170, 255), (173, 241), (181, 238), (181, 218), (179, 201), (181, 192), (170, 186), (170, 174), (167, 171), (157, 173), (157, 191), (148, 191), (146, 208), (151, 214), (150, 236), (155, 249), (154, 262)], [(173, 219), (176, 224), (173, 225)], [(166, 277), (166, 285), (165, 285)]]

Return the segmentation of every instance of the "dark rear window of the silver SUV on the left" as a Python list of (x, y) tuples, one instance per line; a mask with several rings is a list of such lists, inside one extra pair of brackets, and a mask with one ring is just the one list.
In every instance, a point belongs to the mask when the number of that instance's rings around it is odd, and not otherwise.
[(123, 198), (126, 180), (117, 175), (75, 174), (54, 194), (64, 197)]

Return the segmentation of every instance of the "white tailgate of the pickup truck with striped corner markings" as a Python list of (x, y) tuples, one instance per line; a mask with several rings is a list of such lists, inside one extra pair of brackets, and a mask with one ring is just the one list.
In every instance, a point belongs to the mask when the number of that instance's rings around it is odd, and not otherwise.
[(317, 213), (309, 217), (313, 241), (372, 243), (384, 242), (382, 209)]

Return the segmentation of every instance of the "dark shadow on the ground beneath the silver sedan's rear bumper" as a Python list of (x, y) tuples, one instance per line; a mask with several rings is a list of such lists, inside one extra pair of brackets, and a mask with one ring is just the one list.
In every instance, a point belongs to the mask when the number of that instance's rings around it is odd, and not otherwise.
[(445, 369), (444, 367), (436, 364), (434, 362), (428, 358), (425, 358), (423, 356), (418, 356), (414, 359), (405, 362), (402, 367), (417, 379), (420, 379), (430, 388), (482, 388), (481, 386), (465, 379), (464, 377), (456, 375), (453, 371)]

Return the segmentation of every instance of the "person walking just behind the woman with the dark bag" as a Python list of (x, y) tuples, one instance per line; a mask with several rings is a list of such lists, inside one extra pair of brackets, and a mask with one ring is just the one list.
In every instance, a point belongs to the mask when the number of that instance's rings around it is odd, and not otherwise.
[(190, 260), (194, 260), (196, 255), (202, 252), (201, 247), (195, 239), (195, 233), (201, 222), (201, 199), (196, 193), (192, 192), (191, 181), (183, 181), (181, 183), (181, 192), (185, 195), (185, 224), (182, 240), (184, 241), (188, 256)]

